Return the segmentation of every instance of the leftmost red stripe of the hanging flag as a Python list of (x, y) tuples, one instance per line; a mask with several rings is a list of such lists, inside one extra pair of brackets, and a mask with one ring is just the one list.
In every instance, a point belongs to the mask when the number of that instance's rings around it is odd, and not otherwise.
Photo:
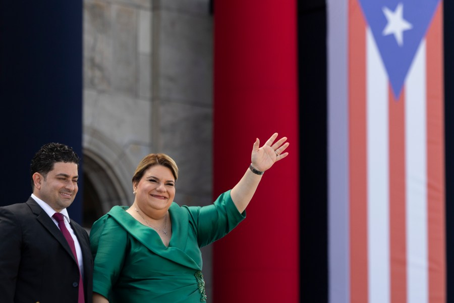
[(350, 296), (366, 303), (366, 24), (357, 0), (349, 1)]

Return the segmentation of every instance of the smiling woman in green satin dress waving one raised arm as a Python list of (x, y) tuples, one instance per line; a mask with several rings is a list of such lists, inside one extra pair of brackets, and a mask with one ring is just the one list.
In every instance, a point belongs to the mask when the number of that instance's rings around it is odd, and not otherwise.
[(235, 187), (205, 207), (173, 202), (178, 168), (164, 154), (150, 154), (132, 179), (134, 203), (113, 207), (93, 224), (93, 303), (206, 301), (200, 247), (220, 239), (245, 217), (263, 172), (287, 157), (274, 133), (259, 148)]

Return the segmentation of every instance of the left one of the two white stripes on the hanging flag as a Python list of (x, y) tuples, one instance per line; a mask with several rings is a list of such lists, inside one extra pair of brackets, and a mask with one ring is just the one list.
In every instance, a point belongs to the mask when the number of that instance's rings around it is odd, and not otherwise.
[(388, 80), (369, 28), (366, 79), (369, 303), (387, 303), (390, 297)]

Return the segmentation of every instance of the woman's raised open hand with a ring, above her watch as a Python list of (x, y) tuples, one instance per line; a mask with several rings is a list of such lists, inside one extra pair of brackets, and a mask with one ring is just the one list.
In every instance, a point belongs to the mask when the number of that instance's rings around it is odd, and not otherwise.
[(274, 133), (260, 148), (260, 140), (258, 138), (255, 140), (252, 147), (251, 162), (256, 170), (266, 171), (273, 166), (274, 162), (282, 160), (289, 155), (289, 153), (283, 153), (290, 144), (286, 142), (287, 137), (282, 137), (273, 143), (276, 137), (277, 133)]

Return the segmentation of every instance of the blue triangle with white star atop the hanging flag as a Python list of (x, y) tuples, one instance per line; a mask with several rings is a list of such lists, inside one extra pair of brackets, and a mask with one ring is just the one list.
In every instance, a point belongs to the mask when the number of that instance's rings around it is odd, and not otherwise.
[(398, 98), (440, 0), (358, 0)]

